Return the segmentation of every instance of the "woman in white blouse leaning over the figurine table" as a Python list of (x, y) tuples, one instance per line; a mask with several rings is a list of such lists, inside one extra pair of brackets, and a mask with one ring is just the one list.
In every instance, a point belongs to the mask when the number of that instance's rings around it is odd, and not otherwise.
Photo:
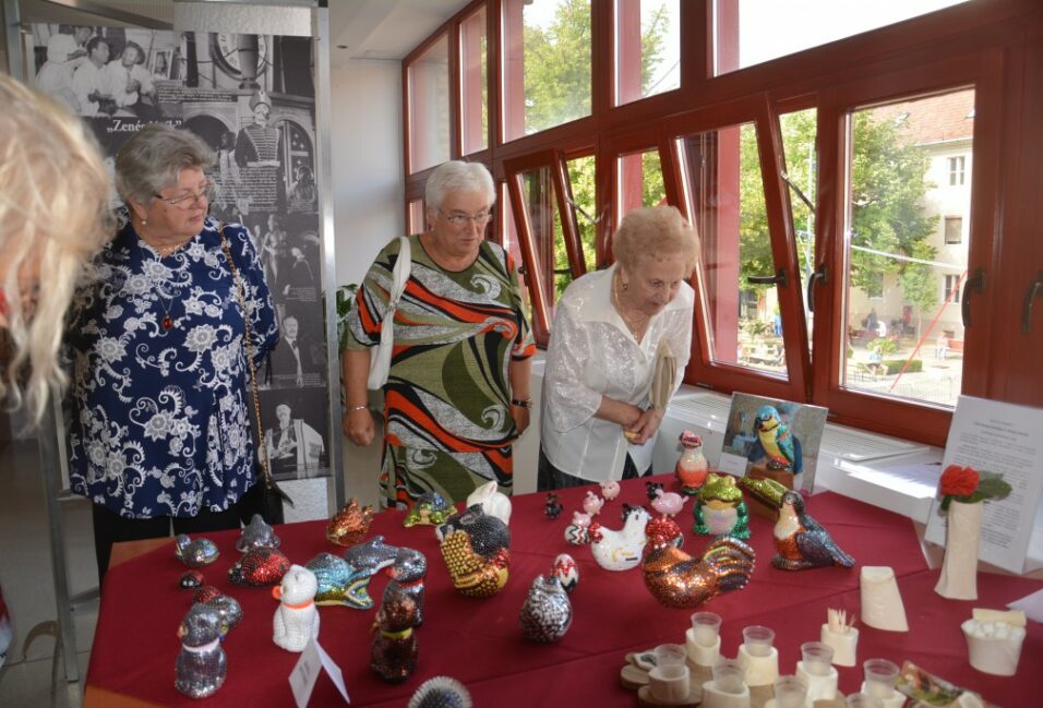
[(651, 472), (663, 411), (649, 401), (660, 340), (681, 385), (695, 296), (686, 283), (698, 237), (672, 206), (636, 209), (612, 238), (615, 263), (568, 286), (543, 376), (540, 490)]

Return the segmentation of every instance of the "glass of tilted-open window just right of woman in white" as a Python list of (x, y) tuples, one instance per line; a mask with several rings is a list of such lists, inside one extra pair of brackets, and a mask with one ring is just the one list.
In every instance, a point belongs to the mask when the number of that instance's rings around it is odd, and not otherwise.
[(710, 357), (775, 374), (786, 373), (775, 286), (747, 278), (774, 276), (764, 181), (753, 123), (683, 137), (686, 200), (703, 243)]

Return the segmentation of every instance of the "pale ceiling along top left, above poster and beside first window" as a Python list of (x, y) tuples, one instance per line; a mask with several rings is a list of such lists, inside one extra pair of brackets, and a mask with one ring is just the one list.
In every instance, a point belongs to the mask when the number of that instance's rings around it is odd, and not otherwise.
[[(329, 61), (334, 68), (351, 60), (398, 61), (469, 0), (328, 0)], [(300, 4), (299, 0), (242, 4)], [(80, 8), (79, 10), (76, 8)], [(173, 0), (21, 0), (23, 22), (97, 24), (97, 14), (115, 13), (117, 22), (133, 24), (133, 15), (170, 23)]]

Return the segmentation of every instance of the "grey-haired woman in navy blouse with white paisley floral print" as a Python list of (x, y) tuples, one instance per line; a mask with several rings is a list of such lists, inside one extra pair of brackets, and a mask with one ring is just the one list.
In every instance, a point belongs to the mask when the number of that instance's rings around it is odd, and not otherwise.
[(214, 160), (159, 123), (123, 145), (124, 223), (76, 300), (70, 481), (94, 502), (103, 576), (113, 542), (167, 536), (171, 518), (175, 533), (238, 528), (256, 481), (239, 283), (255, 363), (279, 333), (249, 231), (207, 217)]

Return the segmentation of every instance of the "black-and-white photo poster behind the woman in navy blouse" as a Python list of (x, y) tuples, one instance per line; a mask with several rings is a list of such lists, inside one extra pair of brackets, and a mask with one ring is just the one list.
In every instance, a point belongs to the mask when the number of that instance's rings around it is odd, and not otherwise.
[(328, 476), (314, 40), (57, 24), (32, 31), (37, 87), (89, 123), (113, 171), (123, 142), (151, 122), (190, 130), (214, 148), (211, 214), (250, 229), (283, 333), (259, 372), (276, 478)]

